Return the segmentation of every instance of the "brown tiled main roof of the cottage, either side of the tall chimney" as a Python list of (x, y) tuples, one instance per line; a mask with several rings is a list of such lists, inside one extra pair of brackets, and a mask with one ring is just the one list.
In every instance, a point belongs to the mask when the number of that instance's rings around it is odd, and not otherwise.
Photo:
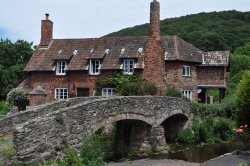
[[(55, 60), (69, 61), (69, 71), (87, 70), (88, 59), (102, 59), (101, 69), (120, 69), (122, 58), (143, 57), (148, 40), (149, 37), (53, 39), (48, 48), (36, 50), (24, 71), (52, 71)], [(202, 63), (202, 51), (177, 36), (161, 37), (161, 43), (165, 60)], [(140, 68), (141, 64), (137, 66)]]

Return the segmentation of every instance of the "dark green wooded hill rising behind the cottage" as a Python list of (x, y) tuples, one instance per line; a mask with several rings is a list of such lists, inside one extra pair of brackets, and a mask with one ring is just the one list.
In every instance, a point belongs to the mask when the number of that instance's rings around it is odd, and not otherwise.
[[(148, 36), (149, 24), (106, 36)], [(250, 42), (250, 12), (199, 13), (161, 21), (161, 35), (177, 35), (204, 51), (230, 50)]]

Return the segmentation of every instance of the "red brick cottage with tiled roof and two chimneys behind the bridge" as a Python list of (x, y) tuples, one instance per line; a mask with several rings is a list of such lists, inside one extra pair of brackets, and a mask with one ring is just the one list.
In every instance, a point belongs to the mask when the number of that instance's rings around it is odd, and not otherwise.
[[(137, 73), (161, 94), (174, 85), (193, 101), (207, 102), (207, 89), (224, 98), (229, 51), (203, 52), (177, 36), (160, 36), (160, 4), (150, 7), (149, 37), (53, 39), (53, 22), (42, 20), (41, 41), (20, 86), (32, 89), (30, 105), (75, 96), (93, 96), (97, 80), (115, 72)], [(103, 96), (115, 90), (102, 89)]]

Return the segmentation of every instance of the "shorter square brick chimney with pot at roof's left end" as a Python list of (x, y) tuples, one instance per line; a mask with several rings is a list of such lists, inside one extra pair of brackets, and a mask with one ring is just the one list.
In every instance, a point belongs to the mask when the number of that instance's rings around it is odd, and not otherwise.
[(53, 22), (49, 20), (49, 14), (45, 14), (45, 20), (42, 20), (40, 46), (47, 47), (53, 39)]

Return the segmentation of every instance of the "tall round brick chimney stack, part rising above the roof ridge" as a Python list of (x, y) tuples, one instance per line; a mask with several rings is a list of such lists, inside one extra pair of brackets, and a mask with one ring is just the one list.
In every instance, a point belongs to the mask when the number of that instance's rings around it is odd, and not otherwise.
[(157, 0), (150, 5), (149, 35), (151, 39), (160, 40), (160, 3)]

